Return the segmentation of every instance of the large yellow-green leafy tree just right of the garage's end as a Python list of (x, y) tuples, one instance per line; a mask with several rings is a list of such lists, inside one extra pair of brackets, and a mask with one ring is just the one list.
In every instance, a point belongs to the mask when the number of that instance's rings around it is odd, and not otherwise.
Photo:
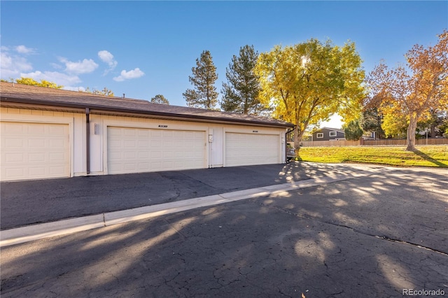
[(274, 118), (295, 125), (297, 150), (309, 125), (334, 113), (348, 122), (358, 116), (365, 97), (361, 62), (354, 43), (339, 47), (317, 39), (260, 54), (260, 102), (274, 106)]

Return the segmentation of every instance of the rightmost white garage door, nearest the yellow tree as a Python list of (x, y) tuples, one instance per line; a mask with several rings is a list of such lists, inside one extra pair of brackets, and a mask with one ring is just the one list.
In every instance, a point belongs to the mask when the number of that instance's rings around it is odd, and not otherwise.
[(225, 134), (225, 166), (278, 164), (279, 136), (273, 134)]

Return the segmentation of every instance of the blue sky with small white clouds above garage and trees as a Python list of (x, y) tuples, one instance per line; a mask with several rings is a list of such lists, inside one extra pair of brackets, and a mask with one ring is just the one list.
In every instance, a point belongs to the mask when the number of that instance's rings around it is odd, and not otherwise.
[[(239, 48), (267, 52), (330, 38), (354, 41), (366, 73), (395, 66), (415, 43), (435, 44), (448, 1), (1, 1), (1, 78), (32, 77), (116, 96), (182, 93), (209, 50), (221, 91)], [(221, 98), (221, 94), (220, 94)]]

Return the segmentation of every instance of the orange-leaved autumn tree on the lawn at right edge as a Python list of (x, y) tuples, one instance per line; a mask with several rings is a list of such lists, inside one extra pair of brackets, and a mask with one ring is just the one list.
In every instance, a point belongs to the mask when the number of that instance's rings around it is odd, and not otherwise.
[(417, 122), (433, 111), (448, 111), (448, 31), (438, 38), (434, 46), (414, 45), (406, 66), (389, 69), (381, 62), (367, 76), (370, 100), (379, 101), (385, 115), (407, 116), (409, 151), (415, 150)]

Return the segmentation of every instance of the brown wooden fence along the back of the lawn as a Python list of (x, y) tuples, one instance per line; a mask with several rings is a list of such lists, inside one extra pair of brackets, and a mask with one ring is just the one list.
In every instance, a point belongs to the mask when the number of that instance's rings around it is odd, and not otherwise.
[[(418, 139), (416, 145), (448, 145), (448, 139)], [(406, 140), (363, 140), (359, 141), (302, 141), (303, 147), (330, 147), (330, 146), (406, 146)]]

